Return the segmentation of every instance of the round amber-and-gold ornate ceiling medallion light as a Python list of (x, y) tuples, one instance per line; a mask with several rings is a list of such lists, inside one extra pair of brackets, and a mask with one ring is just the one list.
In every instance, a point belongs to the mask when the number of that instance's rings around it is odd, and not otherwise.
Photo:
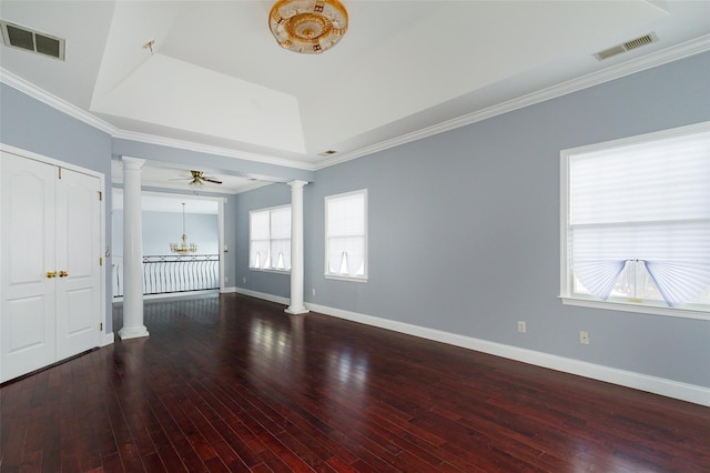
[(317, 54), (333, 48), (347, 31), (347, 11), (337, 0), (278, 0), (268, 26), (282, 48)]

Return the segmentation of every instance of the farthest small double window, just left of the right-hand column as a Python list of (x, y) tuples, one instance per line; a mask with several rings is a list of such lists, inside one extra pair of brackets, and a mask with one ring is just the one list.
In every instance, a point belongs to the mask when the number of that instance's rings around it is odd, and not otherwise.
[(248, 213), (248, 266), (291, 271), (291, 205)]

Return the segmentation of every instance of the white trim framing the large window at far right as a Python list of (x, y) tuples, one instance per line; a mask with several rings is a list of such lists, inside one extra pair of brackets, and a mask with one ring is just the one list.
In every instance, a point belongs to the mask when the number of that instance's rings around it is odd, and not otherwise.
[[(578, 148), (570, 148), (560, 151), (560, 292), (558, 299), (565, 305), (576, 305), (591, 309), (605, 309), (612, 311), (646, 313), (652, 315), (677, 316), (684, 319), (710, 320), (710, 309), (706, 310), (703, 305), (687, 304), (683, 308), (670, 308), (659, 302), (645, 301), (635, 303), (621, 300), (600, 301), (594, 296), (585, 296), (585, 294), (575, 293), (574, 275), (570, 268), (570, 245), (568, 240), (569, 228), (569, 160), (575, 154), (581, 154), (590, 151), (600, 151), (610, 148), (621, 148), (631, 144), (639, 144), (649, 141), (657, 141), (668, 138), (682, 137), (698, 132), (708, 131), (710, 121), (679, 127), (668, 130), (656, 131), (651, 133), (639, 134), (619, 140), (611, 140), (601, 143), (595, 143)], [(696, 309), (697, 308), (697, 309)]]

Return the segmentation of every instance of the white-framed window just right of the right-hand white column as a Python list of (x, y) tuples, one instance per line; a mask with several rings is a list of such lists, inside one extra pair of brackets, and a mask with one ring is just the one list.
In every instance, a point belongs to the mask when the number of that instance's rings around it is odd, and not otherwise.
[(325, 198), (325, 275), (367, 280), (367, 190)]

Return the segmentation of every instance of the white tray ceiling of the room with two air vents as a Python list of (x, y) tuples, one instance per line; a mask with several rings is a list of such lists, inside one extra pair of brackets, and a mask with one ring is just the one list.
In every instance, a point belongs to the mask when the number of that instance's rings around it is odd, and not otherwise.
[[(318, 169), (710, 41), (708, 1), (343, 3), (348, 32), (316, 56), (276, 44), (271, 1), (0, 0), (2, 20), (67, 40), (65, 62), (2, 47), (0, 66), (3, 80), (61, 99), (119, 138)], [(592, 56), (649, 32), (657, 43), (606, 61)], [(143, 48), (151, 40), (152, 53)], [(321, 155), (327, 150), (337, 153)]]

